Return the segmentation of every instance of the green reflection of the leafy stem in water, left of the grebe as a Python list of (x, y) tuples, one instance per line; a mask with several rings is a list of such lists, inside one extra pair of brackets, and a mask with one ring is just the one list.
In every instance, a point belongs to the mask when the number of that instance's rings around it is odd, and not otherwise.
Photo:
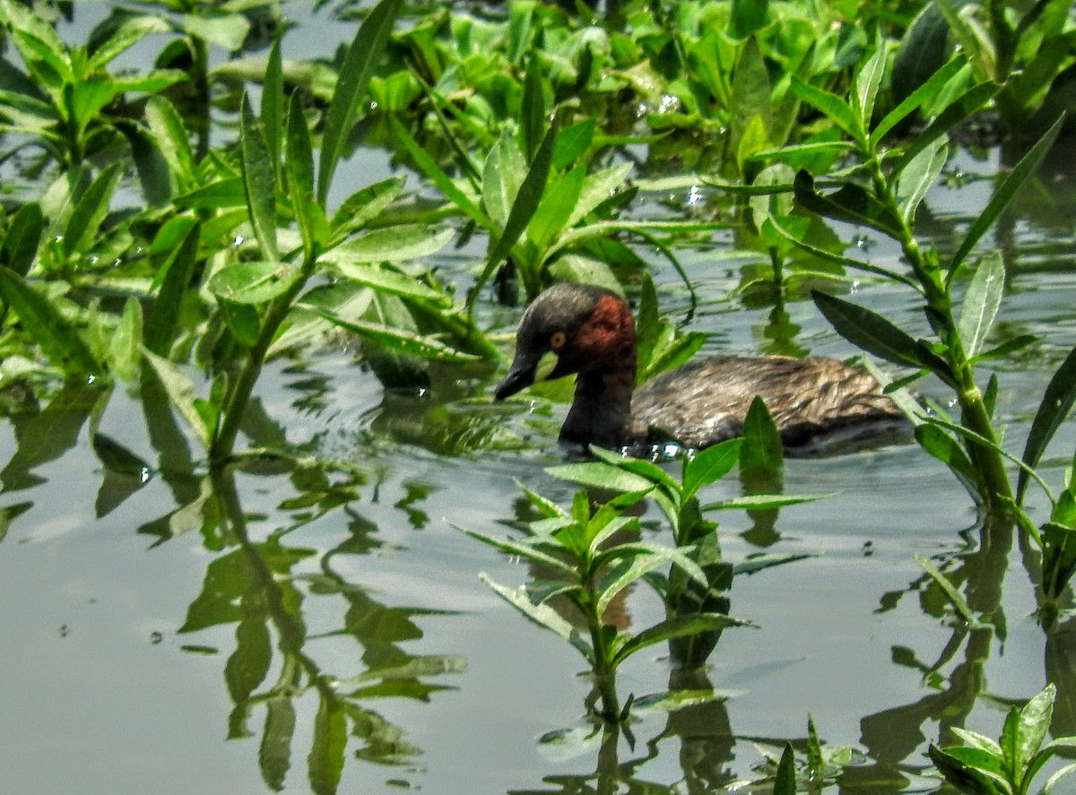
[[(373, 546), (369, 538), (373, 525), (346, 508), (357, 499), (354, 480), (331, 483), (324, 471), (297, 469), (292, 482), (310, 489), (286, 501), (295, 523), (257, 540), (251, 537), (233, 477), (216, 473), (207, 480), (210, 487), (190, 513), (203, 523), (206, 545), (224, 552), (207, 567), (201, 592), (190, 602), (180, 631), (235, 626), (235, 647), (224, 665), (233, 705), (228, 738), (254, 737), (258, 730), (252, 722), (264, 708), (258, 767), (266, 785), (280, 791), (297, 751), (296, 735), (310, 736), (307, 776), (311, 791), (321, 795), (339, 787), (351, 738), (359, 742), (355, 757), (366, 762), (401, 764), (422, 753), (407, 741), (401, 727), (369, 709), (367, 699), (427, 701), (433, 693), (450, 687), (428, 680), (462, 671), (465, 662), (453, 655), (404, 651), (400, 643), (423, 637), (413, 620), (438, 611), (382, 605), (332, 568), (336, 556), (362, 554)], [(421, 494), (411, 492), (408, 505)], [(341, 505), (352, 516), (348, 527), (353, 535), (338, 546), (322, 552), (286, 543), (289, 533), (341, 510)], [(320, 567), (311, 570), (309, 562), (318, 555)], [(305, 611), (311, 597), (325, 596), (342, 599), (346, 610), (337, 628), (312, 634)], [(323, 614), (320, 609), (318, 615)], [(330, 672), (323, 667), (317, 652), (336, 638), (351, 638), (363, 650), (357, 671)], [(297, 732), (303, 716), (312, 720), (312, 730)]]

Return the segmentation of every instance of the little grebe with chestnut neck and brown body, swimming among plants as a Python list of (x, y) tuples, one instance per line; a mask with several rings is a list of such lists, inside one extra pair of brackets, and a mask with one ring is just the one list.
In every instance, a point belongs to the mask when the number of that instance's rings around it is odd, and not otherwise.
[(790, 452), (817, 452), (824, 448), (818, 444), (821, 437), (892, 436), (904, 425), (877, 381), (835, 359), (706, 359), (664, 372), (636, 389), (635, 356), (635, 321), (627, 303), (599, 287), (556, 284), (520, 321), (515, 358), (494, 398), (504, 400), (536, 381), (578, 373), (561, 441), (608, 448), (717, 444), (741, 432), (755, 395), (766, 402)]

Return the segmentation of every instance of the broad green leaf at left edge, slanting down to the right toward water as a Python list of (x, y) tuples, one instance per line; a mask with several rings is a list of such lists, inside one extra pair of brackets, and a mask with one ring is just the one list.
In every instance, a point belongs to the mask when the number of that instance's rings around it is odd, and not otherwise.
[(82, 336), (56, 306), (8, 268), (0, 268), (0, 299), (18, 315), (41, 352), (67, 378), (84, 380), (100, 373), (101, 366)]

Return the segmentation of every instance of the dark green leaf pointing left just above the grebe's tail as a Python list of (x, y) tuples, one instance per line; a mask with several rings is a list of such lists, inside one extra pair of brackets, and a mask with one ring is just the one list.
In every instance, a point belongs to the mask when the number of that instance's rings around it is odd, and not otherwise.
[(926, 368), (947, 384), (955, 383), (944, 359), (876, 312), (818, 290), (811, 290), (811, 298), (837, 333), (852, 344), (886, 361)]

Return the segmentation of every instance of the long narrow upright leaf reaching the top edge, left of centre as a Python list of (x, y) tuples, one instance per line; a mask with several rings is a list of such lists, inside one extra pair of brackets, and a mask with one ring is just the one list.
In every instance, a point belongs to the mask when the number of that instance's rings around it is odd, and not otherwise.
[(400, 0), (381, 0), (370, 10), (340, 65), (337, 87), (325, 119), (317, 168), (317, 203), (322, 207), (328, 199), (332, 175), (355, 124), (358, 102), (388, 43), (399, 4)]

